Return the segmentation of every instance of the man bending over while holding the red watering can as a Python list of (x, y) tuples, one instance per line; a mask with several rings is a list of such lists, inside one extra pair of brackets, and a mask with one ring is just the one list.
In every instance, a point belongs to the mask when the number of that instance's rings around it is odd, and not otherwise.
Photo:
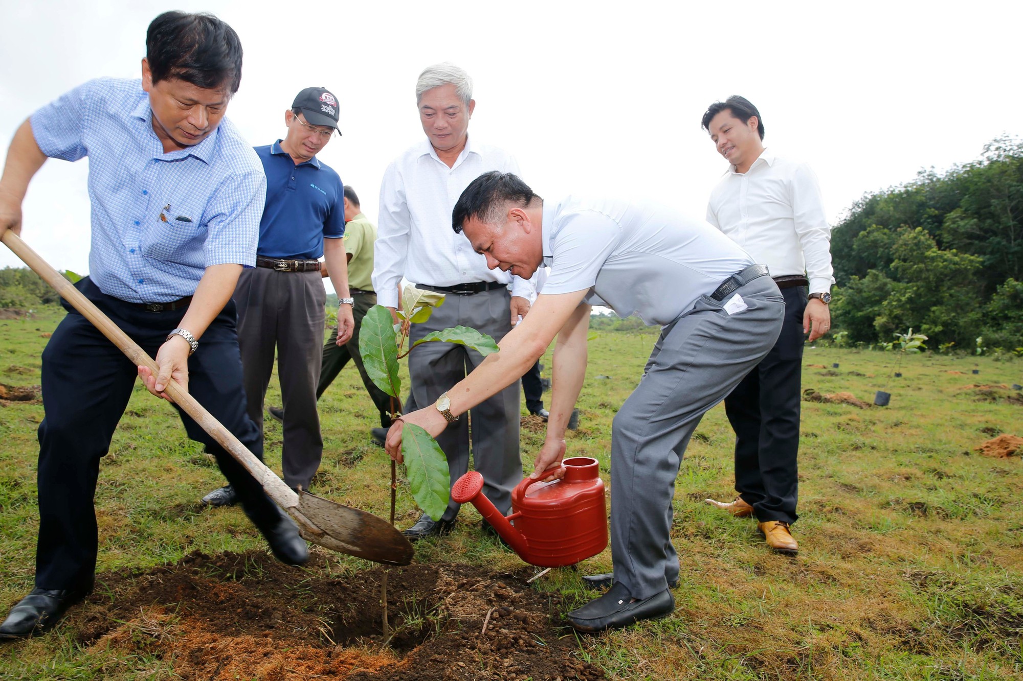
[[(589, 306), (661, 324), (642, 380), (612, 428), (614, 584), (569, 620), (594, 632), (671, 614), (678, 556), (669, 530), (679, 461), (703, 414), (774, 345), (782, 293), (767, 268), (726, 236), (655, 205), (577, 196), (545, 202), (515, 175), (493, 172), (462, 192), (452, 222), (491, 269), (529, 278), (543, 264), (550, 276), (500, 352), (447, 392), (449, 403), (440, 400), (401, 420), (436, 437), (447, 417), (518, 380), (557, 335), (537, 478), (565, 456), (565, 429), (586, 373)], [(401, 424), (391, 427), (387, 449), (400, 460)], [(563, 467), (550, 479), (564, 474)]]

